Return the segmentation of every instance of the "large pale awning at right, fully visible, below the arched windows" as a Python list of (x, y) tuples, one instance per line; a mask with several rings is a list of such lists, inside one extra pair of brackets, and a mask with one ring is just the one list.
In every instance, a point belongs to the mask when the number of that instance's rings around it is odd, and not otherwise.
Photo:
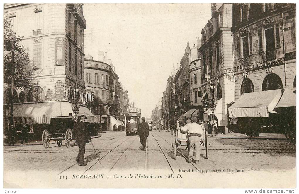
[(281, 89), (245, 93), (228, 108), (229, 117), (269, 117), (281, 97)]

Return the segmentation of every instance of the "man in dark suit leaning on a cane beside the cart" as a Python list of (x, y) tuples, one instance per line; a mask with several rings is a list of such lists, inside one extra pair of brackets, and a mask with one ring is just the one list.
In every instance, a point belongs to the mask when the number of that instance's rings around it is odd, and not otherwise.
[(91, 137), (89, 136), (87, 125), (84, 123), (87, 117), (85, 115), (80, 115), (79, 119), (80, 120), (74, 125), (74, 137), (79, 147), (76, 162), (79, 166), (86, 166), (87, 164), (84, 164), (85, 144), (86, 142), (88, 143), (88, 140), (91, 140)]

